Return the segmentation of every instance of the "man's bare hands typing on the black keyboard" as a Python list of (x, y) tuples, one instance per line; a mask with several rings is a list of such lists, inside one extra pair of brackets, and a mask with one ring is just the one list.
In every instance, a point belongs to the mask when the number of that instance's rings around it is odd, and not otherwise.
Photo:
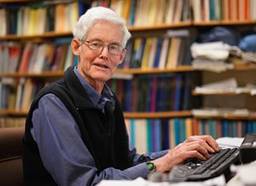
[(189, 158), (205, 161), (210, 158), (209, 153), (214, 152), (219, 152), (219, 146), (212, 136), (190, 136), (152, 163), (156, 165), (157, 172), (168, 172), (174, 165), (182, 164)]

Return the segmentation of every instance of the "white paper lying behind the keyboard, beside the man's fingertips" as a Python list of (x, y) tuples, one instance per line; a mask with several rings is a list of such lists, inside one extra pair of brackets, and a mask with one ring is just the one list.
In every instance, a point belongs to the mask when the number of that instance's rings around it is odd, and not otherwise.
[(223, 137), (223, 138), (217, 138), (216, 141), (219, 144), (220, 148), (237, 148), (237, 147), (240, 147), (243, 140), (244, 138)]

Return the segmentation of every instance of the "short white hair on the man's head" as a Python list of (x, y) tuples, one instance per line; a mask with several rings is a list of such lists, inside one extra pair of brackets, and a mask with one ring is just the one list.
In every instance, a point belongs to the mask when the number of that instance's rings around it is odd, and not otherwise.
[(87, 37), (90, 28), (99, 21), (109, 21), (122, 27), (123, 38), (121, 45), (122, 48), (125, 48), (128, 39), (131, 37), (127, 26), (125, 25), (125, 19), (119, 17), (116, 12), (113, 12), (113, 10), (102, 6), (90, 8), (80, 17), (73, 29), (73, 37), (83, 40)]

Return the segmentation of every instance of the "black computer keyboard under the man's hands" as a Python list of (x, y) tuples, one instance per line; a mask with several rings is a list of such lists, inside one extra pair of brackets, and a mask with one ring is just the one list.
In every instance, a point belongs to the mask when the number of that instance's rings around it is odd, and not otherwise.
[(192, 158), (183, 165), (174, 166), (169, 174), (170, 182), (206, 180), (219, 176), (226, 171), (232, 163), (239, 161), (239, 149), (221, 149), (211, 154), (207, 161)]

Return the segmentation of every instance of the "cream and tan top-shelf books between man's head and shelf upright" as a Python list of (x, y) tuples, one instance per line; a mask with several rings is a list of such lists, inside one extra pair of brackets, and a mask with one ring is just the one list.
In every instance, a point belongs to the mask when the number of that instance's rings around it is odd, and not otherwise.
[(128, 26), (180, 23), (191, 19), (189, 0), (97, 0), (91, 6), (111, 8)]

